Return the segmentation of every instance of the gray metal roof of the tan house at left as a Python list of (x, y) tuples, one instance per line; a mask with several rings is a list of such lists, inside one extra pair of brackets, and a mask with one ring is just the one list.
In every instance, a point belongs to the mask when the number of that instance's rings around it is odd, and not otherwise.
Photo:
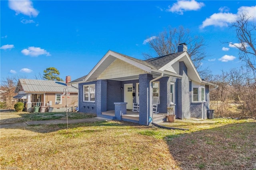
[(64, 88), (68, 88), (70, 93), (78, 93), (78, 84), (67, 86), (64, 81), (52, 80), (34, 80), (34, 79), (19, 79), (15, 93), (22, 87), (23, 91), (28, 92), (52, 92), (62, 93)]

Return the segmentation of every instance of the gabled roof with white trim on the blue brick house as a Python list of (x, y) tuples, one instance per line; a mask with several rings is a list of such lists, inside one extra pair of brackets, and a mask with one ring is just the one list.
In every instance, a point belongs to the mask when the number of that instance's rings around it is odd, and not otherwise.
[[(168, 71), (168, 67), (170, 67), (172, 64), (176, 63), (177, 61), (183, 61), (186, 64), (188, 69), (188, 77), (190, 77), (190, 79), (193, 81), (202, 83), (202, 79), (198, 74), (194, 64), (192, 63), (192, 60), (190, 59), (187, 51), (172, 53), (169, 55), (155, 57), (147, 60), (140, 60), (134, 57), (130, 57), (128, 55), (124, 55), (124, 54), (109, 50), (104, 55), (104, 57), (102, 57), (102, 59), (96, 64), (96, 66), (90, 71), (88, 75), (80, 77), (74, 81), (71, 81), (70, 84), (96, 81), (97, 77), (99, 77), (99, 75), (103, 71), (105, 71), (116, 59), (121, 59), (122, 61), (130, 63), (131, 65), (134, 65), (144, 70), (145, 73), (151, 73), (153, 77), (158, 76), (159, 73), (164, 73), (167, 76), (172, 76), (176, 78), (181, 78), (182, 76), (178, 75), (177, 73), (172, 73), (171, 71)], [(129, 78), (132, 78), (132, 77), (129, 77)]]

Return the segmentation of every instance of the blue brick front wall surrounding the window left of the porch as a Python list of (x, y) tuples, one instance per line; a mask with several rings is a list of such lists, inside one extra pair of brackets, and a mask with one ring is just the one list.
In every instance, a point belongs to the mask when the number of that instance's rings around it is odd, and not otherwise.
[[(83, 101), (83, 85), (90, 85), (90, 84), (95, 84), (95, 88), (97, 89), (96, 87), (96, 81), (92, 81), (90, 83), (79, 83), (78, 84), (78, 88), (79, 88), (79, 99), (78, 99), (78, 102), (79, 102), (79, 112), (83, 112), (83, 113), (94, 113), (96, 114), (96, 104), (95, 102), (86, 102), (86, 101)], [(95, 93), (95, 97), (96, 96), (96, 93)], [(96, 101), (96, 99), (95, 99)]]

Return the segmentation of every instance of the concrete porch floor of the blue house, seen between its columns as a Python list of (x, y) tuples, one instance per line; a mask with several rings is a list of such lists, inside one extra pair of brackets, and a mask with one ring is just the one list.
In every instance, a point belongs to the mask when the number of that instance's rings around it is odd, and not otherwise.
[[(105, 111), (105, 112), (102, 112), (101, 114), (106, 115), (106, 116), (111, 116), (113, 118), (115, 117), (115, 111), (114, 110)], [(153, 122), (154, 123), (160, 123), (160, 122), (166, 121), (166, 115), (167, 115), (167, 113), (153, 114)], [(134, 123), (139, 123), (139, 117), (140, 117), (139, 112), (133, 112), (131, 110), (126, 110), (126, 114), (122, 115), (122, 120), (123, 121), (130, 121), (130, 122), (134, 122)]]

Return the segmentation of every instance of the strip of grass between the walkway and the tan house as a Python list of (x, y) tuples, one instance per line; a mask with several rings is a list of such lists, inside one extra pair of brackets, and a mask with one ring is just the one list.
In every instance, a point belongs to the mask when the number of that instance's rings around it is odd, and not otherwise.
[[(94, 114), (68, 112), (68, 119), (84, 119), (96, 117)], [(66, 112), (45, 112), (45, 113), (28, 113), (28, 112), (10, 112), (0, 113), (1, 123), (18, 123), (25, 121), (45, 121), (54, 119), (66, 119)]]

